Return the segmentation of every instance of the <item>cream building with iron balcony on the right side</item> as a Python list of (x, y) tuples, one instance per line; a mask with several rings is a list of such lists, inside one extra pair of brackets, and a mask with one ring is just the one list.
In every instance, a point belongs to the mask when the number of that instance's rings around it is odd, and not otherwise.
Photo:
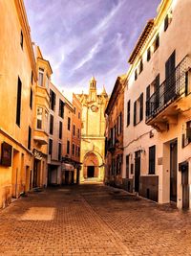
[(161, 1), (129, 58), (124, 92), (126, 189), (179, 208), (191, 208), (190, 12), (190, 1)]

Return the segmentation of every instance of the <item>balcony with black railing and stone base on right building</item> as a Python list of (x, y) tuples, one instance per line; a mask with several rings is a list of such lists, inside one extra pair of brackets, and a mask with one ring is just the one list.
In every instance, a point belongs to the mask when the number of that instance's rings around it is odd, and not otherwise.
[(177, 124), (177, 116), (190, 105), (189, 76), (191, 61), (183, 58), (175, 71), (163, 81), (146, 101), (146, 124), (164, 131), (169, 124)]

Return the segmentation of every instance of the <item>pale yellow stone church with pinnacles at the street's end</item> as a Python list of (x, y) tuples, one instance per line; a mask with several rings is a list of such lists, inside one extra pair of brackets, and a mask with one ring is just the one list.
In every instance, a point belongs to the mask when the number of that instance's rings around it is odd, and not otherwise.
[(103, 181), (105, 157), (104, 112), (109, 97), (103, 87), (100, 95), (96, 91), (96, 79), (90, 81), (89, 94), (76, 95), (82, 104), (82, 129), (80, 182), (85, 180)]

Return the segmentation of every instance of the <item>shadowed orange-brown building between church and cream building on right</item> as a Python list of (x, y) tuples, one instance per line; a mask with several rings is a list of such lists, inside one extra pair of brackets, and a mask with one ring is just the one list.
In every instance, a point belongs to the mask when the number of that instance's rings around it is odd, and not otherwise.
[(122, 187), (124, 87), (126, 76), (117, 77), (105, 110), (106, 157), (105, 183)]

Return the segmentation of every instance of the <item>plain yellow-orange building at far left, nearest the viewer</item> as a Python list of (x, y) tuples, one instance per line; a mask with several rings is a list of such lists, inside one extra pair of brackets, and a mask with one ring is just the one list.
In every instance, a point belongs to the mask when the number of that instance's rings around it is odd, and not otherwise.
[(37, 76), (23, 2), (1, 0), (0, 10), (0, 207), (5, 207), (32, 186)]

